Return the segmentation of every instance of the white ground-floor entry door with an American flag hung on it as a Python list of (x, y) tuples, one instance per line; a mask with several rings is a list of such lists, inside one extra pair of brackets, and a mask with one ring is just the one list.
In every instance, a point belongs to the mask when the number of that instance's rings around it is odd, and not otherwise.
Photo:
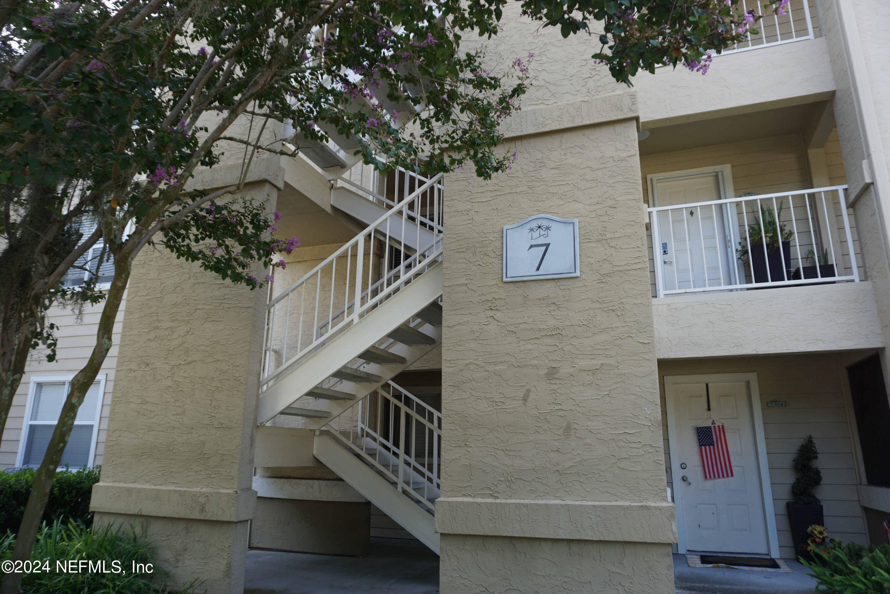
[[(673, 408), (671, 474), (686, 550), (768, 553), (748, 382), (666, 381), (665, 389)], [(711, 419), (725, 425), (732, 478), (705, 478), (695, 427)]]

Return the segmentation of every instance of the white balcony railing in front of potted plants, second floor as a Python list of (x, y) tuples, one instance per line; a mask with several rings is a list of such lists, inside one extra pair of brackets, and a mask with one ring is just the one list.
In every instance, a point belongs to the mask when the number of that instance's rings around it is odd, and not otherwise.
[(858, 282), (845, 188), (650, 208), (656, 296)]

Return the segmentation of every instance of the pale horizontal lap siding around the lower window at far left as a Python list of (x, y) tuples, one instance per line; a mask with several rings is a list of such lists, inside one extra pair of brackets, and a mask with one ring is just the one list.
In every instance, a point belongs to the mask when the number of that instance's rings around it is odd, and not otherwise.
[[(19, 389), (16, 390), (15, 397), (12, 398), (9, 419), (6, 421), (6, 429), (3, 439), (0, 441), (0, 470), (14, 466), (19, 454), (21, 429), (24, 423), (25, 407), (28, 403), (31, 377), (34, 375), (73, 375), (80, 371), (93, 350), (102, 305), (85, 307), (82, 316), (78, 316), (77, 312), (70, 308), (62, 309), (53, 306), (50, 309), (49, 321), (60, 328), (56, 332), (56, 336), (59, 338), (56, 360), (53, 363), (48, 363), (45, 351), (42, 349), (31, 352), (28, 365), (25, 366), (25, 376), (22, 378)], [(120, 344), (125, 306), (126, 300), (122, 301), (120, 311), (117, 313), (112, 334), (113, 345), (109, 350), (108, 357), (105, 357), (105, 364), (102, 365), (100, 372), (106, 374), (106, 380), (96, 443), (96, 464), (102, 463), (102, 454), (105, 451), (105, 434), (108, 429), (109, 407), (111, 393), (114, 389), (115, 366), (117, 365), (117, 348)]]

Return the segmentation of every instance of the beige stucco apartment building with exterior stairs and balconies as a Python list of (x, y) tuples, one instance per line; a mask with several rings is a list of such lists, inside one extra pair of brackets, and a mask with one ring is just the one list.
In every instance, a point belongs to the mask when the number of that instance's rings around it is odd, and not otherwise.
[[(535, 54), (508, 173), (264, 155), (247, 191), (301, 239), (268, 293), (140, 257), (92, 505), (175, 579), (240, 592), (249, 547), (375, 534), (448, 594), (672, 592), (672, 551), (795, 557), (808, 435), (829, 533), (886, 538), (890, 5), (792, 0), (632, 89), (505, 19), (492, 59)], [(732, 478), (704, 477), (712, 421)]]

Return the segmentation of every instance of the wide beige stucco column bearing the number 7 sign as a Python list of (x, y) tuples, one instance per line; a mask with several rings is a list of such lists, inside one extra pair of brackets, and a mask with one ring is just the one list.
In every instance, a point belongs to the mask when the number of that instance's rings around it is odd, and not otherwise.
[[(634, 92), (523, 110), (449, 178), (441, 592), (674, 591)], [(502, 228), (578, 219), (580, 274), (502, 281)]]

